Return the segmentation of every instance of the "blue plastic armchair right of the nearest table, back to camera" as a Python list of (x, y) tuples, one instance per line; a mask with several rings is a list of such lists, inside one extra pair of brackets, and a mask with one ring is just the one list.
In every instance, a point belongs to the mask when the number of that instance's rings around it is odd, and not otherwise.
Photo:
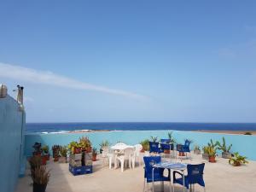
[[(184, 181), (185, 181), (184, 186), (188, 189), (188, 191), (189, 191), (189, 187), (190, 187), (190, 190), (192, 189), (192, 186), (193, 186), (193, 191), (195, 190), (195, 186), (194, 186), (195, 183), (204, 187), (204, 191), (206, 191), (206, 185), (203, 178), (204, 167), (205, 167), (204, 163), (187, 166), (188, 175), (184, 176)], [(177, 178), (176, 177), (177, 174), (181, 177)], [(177, 172), (177, 171), (173, 172), (173, 190), (172, 190), (173, 192), (174, 192), (174, 183), (183, 185), (183, 174), (181, 172)]]

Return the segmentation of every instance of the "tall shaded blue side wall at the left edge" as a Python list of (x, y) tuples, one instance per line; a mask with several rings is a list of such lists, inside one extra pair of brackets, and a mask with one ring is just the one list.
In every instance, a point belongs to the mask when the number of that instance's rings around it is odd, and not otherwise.
[(19, 110), (19, 104), (15, 99), (10, 96), (0, 98), (1, 192), (15, 190), (20, 167), (24, 167), (25, 119), (25, 113)]

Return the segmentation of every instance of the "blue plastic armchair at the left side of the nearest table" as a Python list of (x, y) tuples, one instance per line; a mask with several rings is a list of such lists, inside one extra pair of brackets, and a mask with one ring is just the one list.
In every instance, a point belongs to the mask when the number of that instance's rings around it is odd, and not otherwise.
[[(143, 185), (143, 192), (145, 191), (145, 183), (147, 183), (147, 191), (148, 191), (148, 183), (152, 183), (153, 191), (154, 191), (154, 184), (153, 184), (153, 166), (157, 163), (160, 163), (161, 157), (160, 156), (150, 156), (150, 157), (143, 157), (145, 167), (144, 167), (144, 185)], [(165, 181), (170, 182), (171, 186), (171, 172), (168, 170), (168, 176), (164, 176), (163, 168), (154, 168), (154, 182), (162, 182), (162, 187)]]

